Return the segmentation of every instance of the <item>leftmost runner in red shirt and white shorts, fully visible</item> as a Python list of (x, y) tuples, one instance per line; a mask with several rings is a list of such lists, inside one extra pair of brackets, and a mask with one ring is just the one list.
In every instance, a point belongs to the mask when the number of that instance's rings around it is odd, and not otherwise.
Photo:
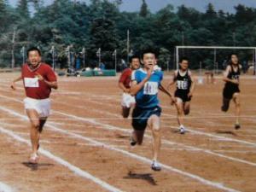
[(27, 61), (22, 67), (20, 77), (12, 82), (11, 88), (15, 90), (15, 82), (23, 80), (26, 90), (24, 104), (31, 122), (32, 154), (29, 162), (37, 164), (39, 138), (49, 116), (49, 94), (51, 88), (57, 89), (58, 85), (54, 71), (41, 61), (41, 51), (38, 48), (32, 47), (27, 50)]

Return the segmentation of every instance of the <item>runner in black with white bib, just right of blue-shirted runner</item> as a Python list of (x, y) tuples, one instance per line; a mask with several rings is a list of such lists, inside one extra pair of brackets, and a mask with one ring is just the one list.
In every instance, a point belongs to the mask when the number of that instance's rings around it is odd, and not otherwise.
[(193, 96), (195, 89), (195, 81), (189, 71), (189, 59), (183, 57), (179, 62), (180, 70), (174, 73), (172, 82), (169, 84), (176, 83), (177, 90), (175, 91), (175, 104), (177, 108), (177, 123), (179, 125), (179, 131), (181, 134), (185, 133), (185, 127), (183, 126), (184, 115), (189, 114), (190, 100)]

